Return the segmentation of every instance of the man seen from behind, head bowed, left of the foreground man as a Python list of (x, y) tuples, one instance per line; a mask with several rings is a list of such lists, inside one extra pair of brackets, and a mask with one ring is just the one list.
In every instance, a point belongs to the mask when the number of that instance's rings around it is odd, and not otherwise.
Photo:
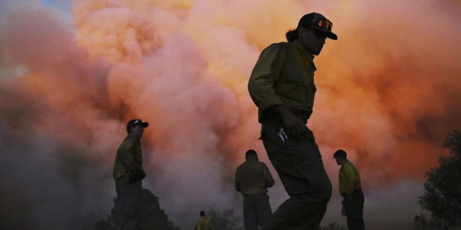
[(246, 151), (245, 162), (235, 172), (235, 190), (243, 196), (243, 224), (245, 230), (256, 230), (272, 215), (267, 188), (274, 186), (274, 178), (266, 164), (258, 160), (255, 150)]

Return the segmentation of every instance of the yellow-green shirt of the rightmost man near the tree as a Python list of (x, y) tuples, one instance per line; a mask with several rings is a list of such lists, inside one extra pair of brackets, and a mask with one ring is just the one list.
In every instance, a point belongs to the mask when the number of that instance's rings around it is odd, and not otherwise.
[(360, 182), (359, 170), (347, 160), (339, 172), (340, 194), (352, 195), (352, 193), (362, 187)]

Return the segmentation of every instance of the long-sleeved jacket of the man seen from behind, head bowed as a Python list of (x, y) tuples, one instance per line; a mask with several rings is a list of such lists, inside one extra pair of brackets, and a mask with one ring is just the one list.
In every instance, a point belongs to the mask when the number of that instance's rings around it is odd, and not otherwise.
[(237, 167), (235, 189), (242, 196), (267, 193), (267, 188), (274, 186), (274, 178), (266, 164), (257, 160), (246, 160)]

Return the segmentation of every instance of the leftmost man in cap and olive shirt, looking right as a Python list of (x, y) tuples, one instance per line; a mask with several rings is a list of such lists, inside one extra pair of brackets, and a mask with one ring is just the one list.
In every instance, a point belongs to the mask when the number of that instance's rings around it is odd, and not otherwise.
[(120, 230), (141, 229), (139, 205), (142, 195), (142, 151), (139, 140), (149, 123), (139, 119), (127, 124), (128, 136), (118, 147), (114, 164), (115, 190), (117, 192), (117, 218)]

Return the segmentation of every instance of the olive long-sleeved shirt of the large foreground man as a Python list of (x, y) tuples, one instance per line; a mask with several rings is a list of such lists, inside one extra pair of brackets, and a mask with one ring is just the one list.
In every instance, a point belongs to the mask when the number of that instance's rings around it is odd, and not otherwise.
[(253, 68), (248, 91), (259, 111), (285, 104), (292, 111), (312, 114), (316, 85), (314, 56), (298, 41), (280, 42), (264, 49)]

